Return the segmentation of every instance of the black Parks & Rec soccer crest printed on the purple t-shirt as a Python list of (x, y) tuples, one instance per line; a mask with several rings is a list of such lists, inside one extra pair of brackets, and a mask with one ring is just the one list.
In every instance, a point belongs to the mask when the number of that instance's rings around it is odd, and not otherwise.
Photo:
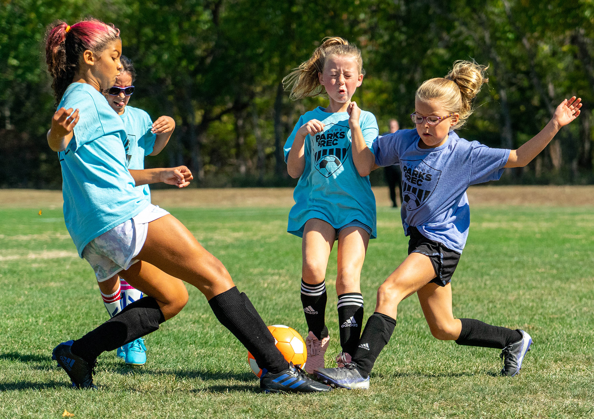
[(441, 170), (434, 169), (423, 160), (401, 160), (402, 205), (408, 211), (421, 207), (435, 191)]

